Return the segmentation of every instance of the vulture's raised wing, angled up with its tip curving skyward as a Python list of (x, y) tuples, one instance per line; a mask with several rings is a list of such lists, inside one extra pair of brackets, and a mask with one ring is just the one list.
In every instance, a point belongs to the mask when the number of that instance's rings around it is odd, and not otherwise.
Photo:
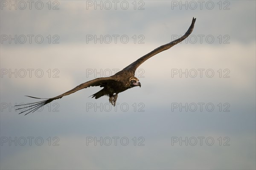
[(192, 23), (191, 23), (191, 26), (189, 27), (188, 31), (186, 31), (186, 33), (180, 37), (179, 39), (177, 40), (174, 40), (172, 42), (169, 42), (168, 44), (165, 44), (165, 45), (162, 45), (156, 49), (154, 49), (153, 51), (151, 51), (150, 53), (146, 54), (145, 56), (143, 57), (140, 57), (139, 59), (137, 59), (135, 62), (131, 63), (130, 65), (128, 65), (127, 67), (125, 67), (123, 70), (126, 70), (126, 71), (131, 71), (133, 74), (135, 73), (136, 69), (143, 63), (145, 62), (147, 59), (149, 59), (150, 57), (162, 52), (162, 51), (165, 51), (169, 48), (171, 48), (172, 46), (176, 45), (177, 43), (180, 43), (181, 41), (185, 40), (186, 37), (188, 37), (192, 31), (193, 31), (193, 28), (194, 28), (194, 25), (195, 25), (195, 19), (193, 17), (193, 20), (192, 20)]

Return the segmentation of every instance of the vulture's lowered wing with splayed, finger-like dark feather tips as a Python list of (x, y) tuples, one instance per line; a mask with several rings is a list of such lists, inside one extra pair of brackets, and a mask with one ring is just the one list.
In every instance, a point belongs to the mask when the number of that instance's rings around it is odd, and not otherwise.
[[(28, 113), (34, 112), (34, 111), (38, 110), (39, 108), (43, 107), (44, 105), (46, 105), (47, 103), (52, 102), (53, 100), (61, 99), (61, 97), (67, 96), (67, 95), (69, 95), (69, 94), (73, 94), (73, 93), (75, 93), (76, 91), (79, 91), (79, 90), (81, 90), (81, 89), (83, 89), (83, 88), (88, 88), (88, 87), (90, 87), (90, 86), (100, 86), (100, 87), (104, 87), (105, 85), (107, 85), (108, 83), (113, 82), (113, 81), (116, 81), (116, 79), (114, 79), (113, 77), (101, 77), (101, 78), (96, 78), (96, 79), (90, 80), (90, 81), (88, 81), (88, 82), (82, 83), (81, 85), (78, 85), (78, 86), (76, 86), (75, 88), (73, 88), (72, 90), (67, 91), (66, 93), (61, 94), (61, 95), (59, 95), (59, 96), (52, 97), (52, 98), (43, 100), (43, 101), (41, 101), (41, 102), (28, 103), (28, 104), (24, 104), (24, 105), (15, 105), (16, 107), (17, 107), (17, 106), (23, 106), (22, 108), (17, 108), (16, 110), (26, 108), (26, 111), (29, 111)], [(28, 96), (28, 97), (32, 97), (32, 96)], [(32, 97), (32, 98), (35, 98), (35, 99), (44, 99), (44, 98), (37, 98), (37, 97)], [(23, 112), (26, 112), (26, 111), (23, 111)], [(20, 112), (20, 113), (23, 113), (23, 112)], [(20, 113), (19, 113), (19, 114), (20, 114)], [(28, 114), (28, 113), (26, 113), (26, 114)], [(25, 114), (25, 115), (26, 115), (26, 114)]]

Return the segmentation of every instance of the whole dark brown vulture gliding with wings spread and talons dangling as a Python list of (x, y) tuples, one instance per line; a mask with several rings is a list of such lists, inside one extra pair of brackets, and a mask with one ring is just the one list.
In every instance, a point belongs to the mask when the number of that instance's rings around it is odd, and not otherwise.
[[(101, 77), (101, 78), (96, 78), (96, 79), (90, 80), (88, 82), (85, 82), (85, 83), (82, 83), (81, 85), (76, 86), (75, 88), (73, 88), (70, 91), (67, 91), (64, 94), (61, 94), (59, 96), (52, 97), (49, 99), (45, 99), (41, 102), (33, 102), (33, 103), (28, 103), (28, 104), (23, 104), (23, 105), (15, 105), (16, 107), (22, 106), (21, 108), (17, 108), (16, 110), (25, 108), (25, 111), (22, 111), (20, 113), (24, 113), (27, 111), (28, 111), (28, 113), (35, 112), (36, 110), (43, 107), (47, 103), (52, 102), (53, 100), (61, 99), (63, 96), (73, 94), (76, 91), (79, 91), (83, 88), (88, 88), (90, 86), (103, 87), (102, 90), (98, 91), (96, 94), (91, 95), (92, 98), (95, 97), (95, 99), (98, 99), (101, 96), (107, 95), (107, 96), (109, 96), (109, 102), (113, 106), (115, 106), (119, 93), (121, 93), (122, 91), (126, 91), (129, 88), (136, 87), (136, 86), (141, 87), (141, 83), (139, 82), (139, 79), (137, 77), (134, 77), (136, 69), (150, 57), (153, 57), (154, 55), (156, 55), (162, 51), (165, 51), (165, 50), (171, 48), (172, 46), (176, 45), (177, 43), (185, 40), (186, 37), (188, 37), (192, 33), (194, 25), (195, 25), (195, 20), (196, 20), (196, 18), (193, 17), (192, 23), (191, 23), (188, 31), (186, 31), (186, 33), (182, 37), (154, 49), (150, 53), (144, 55), (143, 57), (140, 57), (135, 62), (131, 63), (130, 65), (128, 65), (121, 71), (114, 74), (113, 76)], [(32, 97), (32, 96), (28, 96), (28, 97)], [(44, 99), (44, 98), (37, 98), (37, 97), (32, 97), (32, 98)], [(26, 113), (26, 114), (28, 114), (28, 113)]]

